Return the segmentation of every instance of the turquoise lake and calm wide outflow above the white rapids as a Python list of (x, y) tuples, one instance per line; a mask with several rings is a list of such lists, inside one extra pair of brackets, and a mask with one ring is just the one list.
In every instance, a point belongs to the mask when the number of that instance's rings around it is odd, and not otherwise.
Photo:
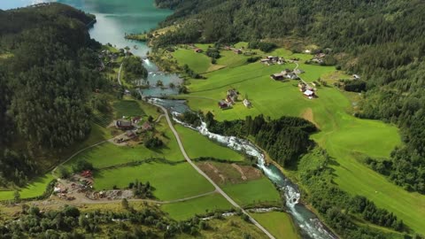
[(117, 48), (128, 46), (135, 56), (144, 58), (143, 65), (148, 69), (148, 81), (151, 88), (143, 89), (144, 96), (165, 96), (178, 94), (178, 89), (161, 89), (155, 87), (158, 80), (165, 86), (173, 82), (182, 84), (182, 79), (175, 73), (163, 73), (146, 54), (150, 48), (144, 42), (127, 40), (124, 35), (143, 33), (158, 26), (158, 22), (173, 13), (158, 9), (153, 0), (0, 0), (0, 9), (24, 7), (30, 4), (58, 2), (68, 4), (84, 12), (96, 15), (97, 23), (89, 29), (89, 34), (97, 42), (111, 43)]

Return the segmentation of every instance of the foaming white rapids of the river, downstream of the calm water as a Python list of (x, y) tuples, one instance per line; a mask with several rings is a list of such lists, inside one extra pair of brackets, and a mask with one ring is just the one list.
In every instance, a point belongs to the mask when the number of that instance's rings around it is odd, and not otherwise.
[(333, 239), (335, 235), (330, 233), (321, 223), (321, 221), (310, 212), (305, 205), (299, 203), (301, 197), (296, 184), (290, 181), (282, 172), (274, 165), (266, 166), (265, 156), (253, 143), (250, 141), (237, 138), (235, 136), (223, 136), (211, 133), (206, 127), (205, 122), (202, 122), (200, 127), (191, 127), (190, 125), (178, 120), (175, 116), (189, 111), (189, 107), (182, 100), (164, 100), (153, 98), (155, 104), (161, 104), (173, 114), (173, 119), (184, 127), (189, 127), (196, 130), (201, 135), (205, 135), (209, 139), (216, 141), (228, 148), (236, 151), (243, 151), (246, 154), (257, 158), (257, 166), (265, 173), (267, 178), (273, 181), (282, 191), (286, 199), (288, 212), (292, 215), (295, 223), (301, 228), (303, 238), (320, 238)]

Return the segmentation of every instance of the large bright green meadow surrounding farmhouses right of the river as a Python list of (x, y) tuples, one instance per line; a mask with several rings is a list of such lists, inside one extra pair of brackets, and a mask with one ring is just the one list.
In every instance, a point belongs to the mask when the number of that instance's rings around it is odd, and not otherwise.
[[(329, 75), (336, 72), (333, 66), (305, 65), (303, 60), (311, 58), (306, 54), (275, 50), (267, 55), (301, 58), (299, 68), (305, 73), (300, 76), (305, 81), (316, 81), (323, 75), (325, 79), (331, 79)], [(374, 200), (379, 207), (394, 212), (413, 230), (425, 233), (425, 220), (421, 220), (425, 216), (425, 197), (395, 186), (360, 160), (365, 156), (388, 158), (390, 151), (401, 143), (398, 128), (378, 120), (353, 117), (350, 113), (352, 103), (339, 89), (319, 87), (319, 97), (308, 99), (299, 92), (298, 81), (273, 81), (269, 77), (272, 73), (294, 67), (296, 65), (291, 63), (282, 66), (252, 63), (205, 73), (206, 81), (190, 81), (189, 106), (193, 110), (213, 112), (217, 120), (244, 119), (247, 115), (264, 114), (271, 118), (290, 115), (313, 121), (321, 129), (320, 133), (313, 135), (313, 139), (328, 150), (338, 163), (334, 166), (335, 181), (341, 189)], [(247, 109), (239, 102), (232, 109), (220, 110), (217, 102), (226, 96), (230, 88), (236, 88), (241, 93), (239, 100), (248, 96), (253, 107)]]

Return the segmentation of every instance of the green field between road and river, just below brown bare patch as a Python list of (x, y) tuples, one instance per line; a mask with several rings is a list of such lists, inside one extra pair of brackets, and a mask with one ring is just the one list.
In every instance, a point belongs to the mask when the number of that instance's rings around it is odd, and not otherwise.
[(241, 206), (259, 203), (282, 204), (279, 192), (266, 177), (239, 184), (227, 184), (222, 189)]

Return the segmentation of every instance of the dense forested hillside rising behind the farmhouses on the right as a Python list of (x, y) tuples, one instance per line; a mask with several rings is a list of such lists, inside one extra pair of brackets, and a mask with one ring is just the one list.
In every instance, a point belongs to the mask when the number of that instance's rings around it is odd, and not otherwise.
[[(284, 42), (297, 52), (330, 48), (338, 65), (367, 82), (357, 115), (395, 123), (405, 146), (373, 168), (425, 193), (425, 2), (421, 0), (156, 0), (175, 9), (155, 47), (192, 42)], [(288, 43), (290, 42), (290, 43)], [(374, 165), (375, 164), (375, 165)], [(378, 164), (378, 166), (376, 166)]]

